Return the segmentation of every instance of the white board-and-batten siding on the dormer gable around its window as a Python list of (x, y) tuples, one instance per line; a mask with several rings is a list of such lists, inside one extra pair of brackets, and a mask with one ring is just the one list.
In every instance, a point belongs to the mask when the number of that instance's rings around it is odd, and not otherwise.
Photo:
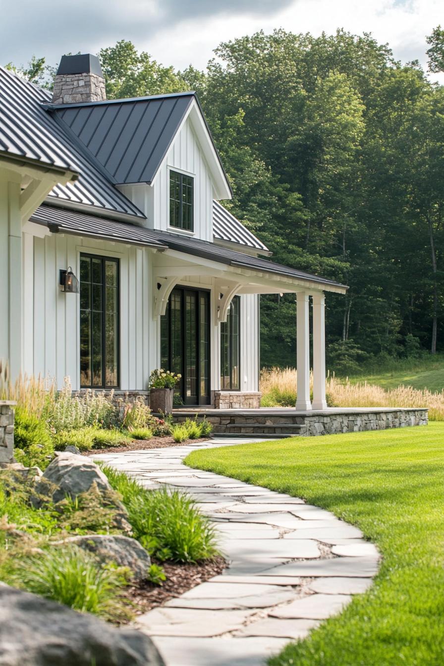
[[(194, 178), (194, 232), (170, 227), (169, 172), (177, 170)], [(212, 205), (214, 191), (210, 170), (204, 159), (190, 119), (178, 131), (152, 185), (120, 185), (119, 189), (144, 212), (150, 228), (213, 239)]]

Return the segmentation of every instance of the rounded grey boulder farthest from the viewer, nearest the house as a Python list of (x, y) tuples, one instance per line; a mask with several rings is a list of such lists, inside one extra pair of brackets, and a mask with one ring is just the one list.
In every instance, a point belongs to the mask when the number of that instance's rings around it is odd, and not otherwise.
[[(75, 500), (77, 496), (87, 493), (95, 486), (103, 495), (104, 500), (114, 496), (114, 491), (101, 468), (86, 456), (77, 456), (68, 451), (58, 453), (47, 466), (41, 480), (35, 485), (33, 503), (37, 506), (44, 503), (44, 498), (57, 503), (67, 496)], [(114, 524), (118, 529), (131, 533), (131, 526), (126, 519), (126, 509), (118, 500), (113, 501), (118, 509)], [(1, 666), (1, 665), (0, 665)]]

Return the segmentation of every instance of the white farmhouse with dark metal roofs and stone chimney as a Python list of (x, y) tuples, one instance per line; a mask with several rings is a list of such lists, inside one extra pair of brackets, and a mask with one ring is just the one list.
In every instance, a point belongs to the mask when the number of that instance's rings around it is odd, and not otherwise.
[[(347, 288), (272, 262), (220, 203), (231, 196), (194, 93), (107, 101), (93, 55), (63, 56), (52, 97), (0, 69), (0, 359), (12, 378), (145, 392), (162, 367), (182, 375), (185, 408), (257, 409), (259, 297), (294, 293), (296, 410), (325, 410), (324, 293)], [(337, 427), (365, 428), (349, 422)]]

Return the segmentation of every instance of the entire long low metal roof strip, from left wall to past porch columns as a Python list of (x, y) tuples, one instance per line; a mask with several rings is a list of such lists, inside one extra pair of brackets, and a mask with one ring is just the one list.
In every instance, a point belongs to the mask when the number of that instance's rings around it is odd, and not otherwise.
[(316, 282), (320, 286), (347, 288), (343, 284), (339, 284), (339, 282), (334, 282), (328, 278), (321, 278), (320, 276), (312, 275), (296, 268), (290, 268), (290, 266), (282, 266), (282, 264), (275, 264), (266, 259), (228, 250), (207, 240), (189, 238), (188, 236), (182, 236), (182, 234), (154, 231), (134, 224), (106, 220), (105, 218), (74, 213), (51, 206), (40, 206), (31, 217), (31, 220), (40, 224), (47, 224), (50, 228), (59, 227), (67, 233), (100, 236), (101, 238), (112, 238), (112, 240), (121, 240), (122, 242), (132, 242), (134, 244), (149, 245), (158, 248), (170, 248), (171, 250), (186, 252), (186, 254), (210, 259), (220, 264), (227, 264), (228, 266), (238, 266), (239, 268), (249, 268), (250, 270), (282, 275), (287, 278)]

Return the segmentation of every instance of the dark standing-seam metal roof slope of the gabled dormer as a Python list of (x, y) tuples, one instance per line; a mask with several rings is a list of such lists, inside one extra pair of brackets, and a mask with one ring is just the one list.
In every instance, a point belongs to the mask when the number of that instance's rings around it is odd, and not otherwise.
[(114, 183), (152, 182), (194, 93), (53, 109)]

